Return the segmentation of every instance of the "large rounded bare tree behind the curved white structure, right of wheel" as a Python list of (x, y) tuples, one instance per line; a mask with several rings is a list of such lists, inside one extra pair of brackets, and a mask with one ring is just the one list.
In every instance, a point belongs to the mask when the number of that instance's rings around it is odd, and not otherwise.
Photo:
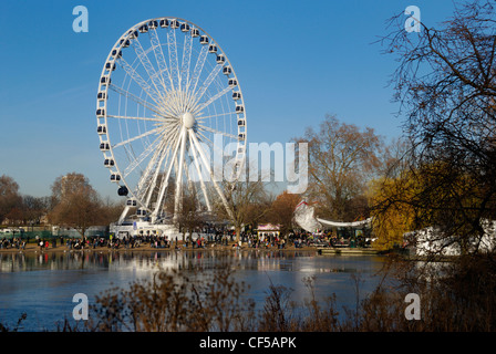
[(306, 196), (319, 201), (320, 217), (349, 221), (366, 212), (366, 181), (382, 166), (384, 143), (374, 131), (327, 115), (319, 131), (307, 128), (297, 143), (308, 143), (309, 188)]

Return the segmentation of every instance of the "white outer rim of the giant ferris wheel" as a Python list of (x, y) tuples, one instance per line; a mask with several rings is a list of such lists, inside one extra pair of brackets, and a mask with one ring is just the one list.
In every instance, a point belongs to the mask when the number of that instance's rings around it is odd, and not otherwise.
[[(208, 37), (208, 39), (209, 40), (211, 40), (211, 43), (215, 43), (215, 45), (217, 46), (217, 50), (218, 51), (220, 51), (220, 53), (223, 54), (223, 56), (224, 56), (224, 59), (225, 59), (225, 64), (223, 64), (223, 67), (225, 67), (225, 66), (229, 66), (230, 67), (230, 72), (229, 72), (229, 74), (231, 74), (231, 76), (236, 80), (236, 92), (238, 92), (239, 94), (240, 94), (240, 101), (241, 101), (241, 106), (242, 106), (242, 119), (244, 119), (244, 127), (242, 127), (242, 134), (244, 134), (244, 138), (242, 139), (239, 139), (238, 138), (238, 140), (237, 140), (237, 153), (236, 153), (236, 160), (237, 162), (239, 162), (240, 164), (244, 164), (245, 163), (245, 159), (246, 159), (246, 145), (247, 145), (247, 140), (246, 140), (246, 136), (247, 136), (247, 119), (246, 119), (246, 108), (245, 108), (245, 101), (244, 101), (244, 95), (242, 95), (242, 90), (241, 90), (241, 85), (240, 85), (240, 83), (239, 83), (239, 80), (237, 79), (237, 74), (236, 74), (236, 72), (235, 72), (235, 70), (234, 70), (234, 66), (232, 66), (232, 64), (230, 63), (230, 61), (229, 61), (229, 58), (227, 56), (227, 54), (225, 53), (225, 51), (221, 49), (221, 46), (218, 44), (218, 42), (217, 41), (215, 41), (214, 40), (214, 38), (207, 32), (207, 31), (205, 31), (203, 28), (200, 28), (199, 25), (197, 25), (196, 23), (194, 23), (194, 22), (192, 22), (192, 21), (188, 21), (188, 20), (185, 20), (185, 19), (182, 19), (182, 18), (177, 18), (177, 17), (159, 17), (159, 18), (152, 18), (152, 19), (147, 19), (147, 20), (144, 20), (144, 21), (141, 21), (141, 22), (138, 22), (138, 23), (136, 23), (136, 24), (134, 24), (133, 27), (131, 27), (130, 29), (127, 29), (118, 39), (117, 39), (117, 41), (115, 42), (115, 44), (112, 46), (112, 49), (111, 49), (111, 51), (110, 51), (110, 53), (108, 53), (108, 55), (107, 55), (107, 58), (106, 58), (106, 60), (105, 60), (105, 63), (104, 63), (104, 65), (103, 65), (103, 69), (102, 69), (102, 74), (101, 74), (101, 76), (100, 76), (100, 85), (99, 85), (99, 98), (100, 98), (100, 93), (103, 93), (104, 92), (104, 94), (105, 94), (105, 96), (104, 96), (104, 104), (103, 104), (103, 108), (104, 108), (104, 116), (103, 116), (103, 121), (104, 121), (104, 126), (105, 127), (108, 127), (108, 112), (107, 112), (107, 100), (108, 100), (108, 88), (111, 87), (111, 79), (112, 79), (112, 72), (113, 72), (113, 70), (115, 69), (112, 69), (112, 70), (110, 70), (108, 71), (108, 69), (106, 69), (106, 64), (107, 63), (111, 63), (111, 65), (115, 65), (115, 62), (116, 62), (116, 60), (117, 59), (120, 59), (118, 58), (118, 55), (117, 56), (115, 56), (115, 55), (113, 55), (112, 53), (113, 52), (115, 52), (115, 51), (117, 51), (117, 53), (122, 53), (122, 50), (123, 50), (123, 44), (125, 43), (125, 41), (128, 41), (130, 39), (131, 39), (131, 37), (133, 35), (133, 33), (135, 33), (135, 31), (137, 31), (141, 27), (143, 27), (143, 25), (145, 25), (145, 24), (149, 24), (149, 23), (152, 23), (152, 21), (162, 21), (162, 20), (170, 20), (170, 21), (178, 21), (179, 23), (182, 23), (182, 24), (184, 24), (184, 23), (187, 23), (187, 24), (189, 24), (190, 27), (192, 27), (192, 30), (193, 29), (197, 29), (198, 31), (200, 31), (202, 33), (203, 33), (203, 35), (206, 35), (206, 37)], [(175, 29), (177, 29), (177, 28), (175, 28)], [(156, 30), (156, 28), (155, 29), (153, 29), (153, 30)], [(189, 31), (188, 31), (189, 32)], [(175, 33), (175, 32), (174, 32)], [(187, 35), (187, 34), (185, 34), (185, 35)], [(137, 37), (136, 37), (137, 38)], [(176, 48), (176, 50), (177, 50), (177, 48)], [(136, 61), (136, 59), (135, 59), (135, 61)], [(190, 67), (188, 67), (188, 70), (190, 71)], [(108, 80), (108, 82), (106, 82), (105, 81), (105, 84), (103, 84), (102, 83), (102, 81), (103, 81), (103, 79), (104, 77), (106, 77), (105, 80)], [(131, 80), (130, 80), (130, 84), (131, 84)], [(103, 90), (102, 90), (102, 86), (104, 86), (103, 87)], [(122, 88), (122, 87), (121, 87)], [(232, 92), (235, 92), (234, 90), (232, 90)], [(143, 93), (143, 91), (142, 91), (142, 93)], [(141, 94), (142, 94), (141, 93)], [(102, 108), (102, 105), (101, 105), (101, 100), (99, 100), (97, 98), (97, 102), (96, 102), (96, 107), (97, 107), (97, 110), (99, 108)], [(147, 104), (149, 104), (149, 105), (153, 105), (151, 102), (148, 102), (148, 98), (149, 97), (145, 97), (144, 100), (145, 100), (145, 102), (147, 102)], [(126, 100), (127, 100), (127, 97), (126, 97)], [(149, 101), (152, 101), (152, 100), (149, 100)], [(229, 113), (228, 112), (228, 114), (231, 114), (231, 113)], [(101, 118), (101, 117), (100, 117)], [(148, 118), (148, 119), (152, 119), (152, 118)], [(239, 119), (239, 118), (238, 118)], [(97, 123), (99, 123), (99, 125), (100, 125), (100, 119), (99, 119), (99, 116), (97, 116)], [(115, 154), (114, 154), (114, 149), (117, 147), (116, 145), (112, 145), (112, 139), (111, 139), (111, 135), (110, 135), (110, 132), (108, 131), (106, 131), (105, 132), (105, 134), (99, 134), (100, 135), (100, 143), (101, 143), (101, 145), (102, 145), (102, 143), (105, 143), (105, 144), (108, 144), (108, 148), (107, 149), (105, 149), (105, 150), (103, 150), (103, 155), (104, 155), (104, 158), (105, 159), (107, 159), (107, 158), (111, 158), (112, 160), (113, 160), (113, 163), (114, 163), (114, 165), (113, 165), (113, 167), (112, 168), (110, 168), (110, 170), (111, 170), (111, 174), (113, 173), (113, 171), (115, 171), (116, 173), (116, 175), (117, 176), (121, 176), (120, 177), (120, 180), (117, 181), (117, 185), (118, 186), (122, 186), (122, 187), (125, 187), (125, 188), (127, 188), (127, 190), (128, 190), (128, 192), (132, 195), (132, 199), (134, 199), (134, 200), (136, 200), (138, 204), (140, 204), (140, 206), (142, 207), (142, 208), (145, 208), (146, 210), (148, 210), (148, 211), (152, 211), (151, 210), (151, 208), (149, 208), (149, 206), (148, 205), (145, 205), (144, 202), (143, 202), (143, 200), (142, 200), (142, 197), (138, 197), (138, 196), (136, 196), (135, 195), (135, 190), (132, 188), (132, 186), (131, 185), (128, 185), (128, 183), (126, 181), (126, 178), (124, 177), (124, 174), (123, 174), (123, 170), (122, 170), (122, 168), (121, 168), (121, 166), (120, 166), (120, 164), (117, 163), (117, 158), (116, 158), (116, 156), (115, 156)], [(190, 135), (189, 133), (188, 133), (188, 135)], [(238, 126), (238, 136), (239, 136), (239, 126)], [(103, 140), (103, 137), (105, 137), (106, 139), (105, 140)], [(186, 137), (185, 137), (186, 138)], [(184, 138), (184, 139), (185, 139)], [(179, 140), (177, 140), (177, 142), (179, 142)], [(152, 143), (151, 145), (153, 145), (153, 144), (155, 144), (155, 143)], [(239, 147), (242, 147), (242, 153), (240, 153), (239, 152)], [(172, 164), (172, 163), (170, 163)], [(112, 175), (111, 175), (112, 176)], [(237, 173), (237, 176), (236, 176), (236, 179), (238, 179), (239, 178), (239, 176), (240, 176), (240, 171), (239, 173)]]

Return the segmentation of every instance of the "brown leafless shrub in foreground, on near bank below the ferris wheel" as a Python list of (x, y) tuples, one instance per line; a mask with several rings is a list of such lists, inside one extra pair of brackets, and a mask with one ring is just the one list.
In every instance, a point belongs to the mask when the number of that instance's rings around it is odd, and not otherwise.
[(95, 320), (90, 329), (112, 332), (247, 330), (255, 304), (242, 298), (247, 285), (237, 282), (232, 272), (228, 263), (211, 273), (203, 269), (196, 274), (159, 271), (152, 280), (132, 283), (128, 290), (108, 290), (97, 296), (92, 308)]

